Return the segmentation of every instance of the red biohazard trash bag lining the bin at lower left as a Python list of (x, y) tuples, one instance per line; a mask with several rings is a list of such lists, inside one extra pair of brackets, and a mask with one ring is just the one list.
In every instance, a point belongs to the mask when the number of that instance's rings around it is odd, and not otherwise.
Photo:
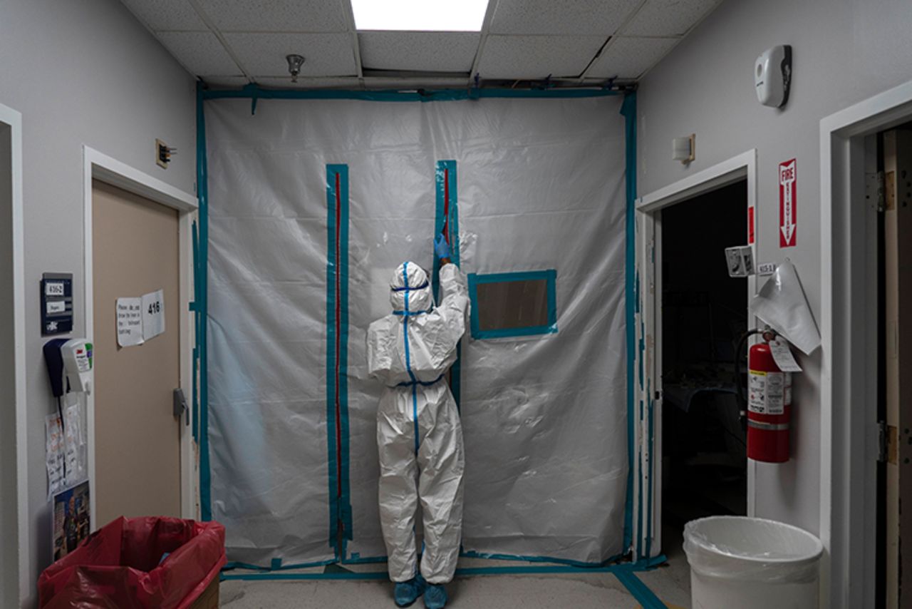
[(42, 609), (184, 609), (219, 576), (218, 522), (119, 518), (92, 533), (38, 578)]

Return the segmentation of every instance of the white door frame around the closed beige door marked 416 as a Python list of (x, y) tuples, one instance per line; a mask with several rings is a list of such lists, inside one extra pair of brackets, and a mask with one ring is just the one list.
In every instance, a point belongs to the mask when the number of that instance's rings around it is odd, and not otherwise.
[[(132, 194), (149, 199), (155, 203), (176, 209), (178, 212), (179, 232), (179, 295), (177, 306), (180, 310), (179, 319), (181, 333), (180, 351), (180, 384), (185, 395), (190, 395), (192, 386), (193, 362), (193, 320), (190, 302), (193, 294), (193, 245), (192, 222), (198, 207), (196, 196), (185, 193), (179, 188), (162, 182), (148, 173), (121, 163), (103, 152), (82, 147), (83, 156), (83, 218), (84, 236), (83, 245), (85, 255), (83, 258), (83, 272), (85, 273), (85, 328), (86, 336), (94, 334), (95, 307), (93, 260), (92, 260), (92, 180), (117, 186)], [(95, 394), (88, 394), (86, 405), (88, 419), (88, 480), (92, 492), (89, 495), (91, 525), (95, 530), (95, 501), (98, 493), (95, 492)], [(192, 442), (192, 425), (181, 425), (181, 516), (183, 518), (197, 518), (197, 485), (195, 469), (195, 451)]]

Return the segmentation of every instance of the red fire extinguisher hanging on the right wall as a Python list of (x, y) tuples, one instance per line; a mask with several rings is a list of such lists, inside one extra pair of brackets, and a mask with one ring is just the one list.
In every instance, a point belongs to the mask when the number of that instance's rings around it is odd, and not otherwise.
[(792, 373), (783, 373), (772, 358), (772, 331), (748, 353), (747, 456), (755, 461), (789, 460), (792, 420)]

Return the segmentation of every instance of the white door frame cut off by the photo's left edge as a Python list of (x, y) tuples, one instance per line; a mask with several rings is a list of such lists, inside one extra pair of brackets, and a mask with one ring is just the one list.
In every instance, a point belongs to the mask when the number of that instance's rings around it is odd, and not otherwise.
[[(22, 114), (0, 104), (0, 122), (10, 128), (11, 178), (12, 178), (12, 262), (13, 262), (13, 379), (16, 421), (16, 462), (0, 463), (0, 467), (15, 469), (16, 478), (16, 531), (15, 543), (4, 543), (4, 564), (16, 564), (18, 590), (16, 605), (27, 598), (32, 585), (28, 581), (31, 564), (28, 535), (28, 428), (26, 425), (26, 238), (23, 223), (22, 194)], [(8, 407), (8, 404), (5, 405)], [(8, 562), (7, 562), (8, 561)], [(0, 599), (4, 602), (5, 599)]]

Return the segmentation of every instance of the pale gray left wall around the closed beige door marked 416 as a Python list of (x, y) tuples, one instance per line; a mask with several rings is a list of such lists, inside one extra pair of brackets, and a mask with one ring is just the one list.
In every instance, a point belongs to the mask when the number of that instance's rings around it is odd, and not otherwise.
[[(23, 115), (30, 598), (51, 559), (38, 281), (74, 274), (84, 327), (82, 144), (192, 193), (194, 82), (117, 0), (0, 0), (0, 103)], [(167, 171), (155, 138), (179, 149)], [(104, 238), (104, 236), (96, 236)], [(7, 495), (4, 490), (4, 503)], [(6, 568), (6, 565), (4, 565)]]

